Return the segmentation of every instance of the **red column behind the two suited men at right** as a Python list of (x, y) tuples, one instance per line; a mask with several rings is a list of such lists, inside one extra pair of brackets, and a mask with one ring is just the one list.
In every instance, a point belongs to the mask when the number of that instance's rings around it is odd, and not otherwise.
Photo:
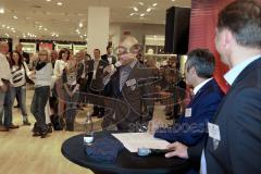
[(227, 91), (227, 85), (223, 75), (227, 66), (221, 62), (215, 50), (215, 26), (221, 9), (233, 0), (191, 0), (191, 16), (189, 30), (189, 50), (208, 48), (215, 55), (216, 66), (214, 78), (223, 91)]

